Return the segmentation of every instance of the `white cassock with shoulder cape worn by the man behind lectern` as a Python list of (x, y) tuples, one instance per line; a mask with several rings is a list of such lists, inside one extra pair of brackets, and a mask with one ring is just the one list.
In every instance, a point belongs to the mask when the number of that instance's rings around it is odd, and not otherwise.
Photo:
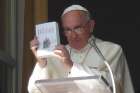
[[(89, 39), (92, 42), (93, 36)], [(114, 74), (116, 83), (116, 93), (134, 93), (128, 65), (123, 54), (122, 48), (118, 44), (112, 42), (96, 39), (96, 44), (102, 52), (105, 59)], [(96, 52), (94, 46), (87, 44), (83, 49), (77, 51), (72, 49), (69, 45), (66, 46), (71, 59), (74, 62), (71, 71), (66, 71), (61, 62), (56, 58), (47, 58), (47, 66), (40, 67), (37, 63), (32, 72), (28, 83), (29, 93), (40, 93), (35, 86), (35, 81), (39, 79), (55, 79), (62, 77), (79, 77), (90, 75), (102, 75), (110, 86), (112, 86), (110, 73), (103, 63), (102, 58)], [(70, 72), (70, 74), (69, 74)], [(97, 82), (98, 83), (98, 82)], [(95, 93), (109, 93), (109, 92), (95, 92)]]

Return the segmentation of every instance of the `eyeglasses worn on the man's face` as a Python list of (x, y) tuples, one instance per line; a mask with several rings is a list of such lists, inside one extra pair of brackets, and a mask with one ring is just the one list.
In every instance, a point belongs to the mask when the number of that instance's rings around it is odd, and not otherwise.
[(76, 26), (74, 29), (64, 29), (65, 32), (76, 32), (76, 33), (81, 33), (84, 31), (84, 28), (86, 27), (86, 25), (88, 24), (89, 21), (87, 21), (84, 25), (81, 26)]

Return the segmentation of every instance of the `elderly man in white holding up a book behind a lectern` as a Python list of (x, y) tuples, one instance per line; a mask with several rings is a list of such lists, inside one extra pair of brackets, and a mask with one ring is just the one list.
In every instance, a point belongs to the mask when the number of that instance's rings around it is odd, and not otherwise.
[(81, 5), (71, 5), (64, 10), (61, 20), (68, 45), (58, 45), (53, 58), (37, 58), (37, 38), (31, 41), (31, 50), (38, 62), (29, 79), (29, 93), (39, 93), (35, 92), (38, 91), (34, 84), (36, 80), (61, 77), (102, 75), (112, 87), (104, 61), (112, 69), (117, 93), (134, 93), (122, 48), (91, 34), (95, 22), (90, 19), (89, 11)]

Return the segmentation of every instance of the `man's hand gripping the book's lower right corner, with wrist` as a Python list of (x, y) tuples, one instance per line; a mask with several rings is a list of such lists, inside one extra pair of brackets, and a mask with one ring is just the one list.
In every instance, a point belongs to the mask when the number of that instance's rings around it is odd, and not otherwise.
[(54, 50), (54, 54), (58, 59), (61, 60), (61, 62), (67, 69), (71, 69), (71, 67), (73, 66), (73, 62), (70, 58), (68, 50), (64, 45), (58, 45)]

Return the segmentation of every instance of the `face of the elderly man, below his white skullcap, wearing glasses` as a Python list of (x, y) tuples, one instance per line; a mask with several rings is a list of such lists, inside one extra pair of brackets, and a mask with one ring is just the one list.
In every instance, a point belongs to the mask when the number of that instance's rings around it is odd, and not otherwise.
[(72, 48), (80, 50), (88, 43), (92, 28), (90, 21), (83, 11), (71, 11), (63, 15), (62, 26)]

